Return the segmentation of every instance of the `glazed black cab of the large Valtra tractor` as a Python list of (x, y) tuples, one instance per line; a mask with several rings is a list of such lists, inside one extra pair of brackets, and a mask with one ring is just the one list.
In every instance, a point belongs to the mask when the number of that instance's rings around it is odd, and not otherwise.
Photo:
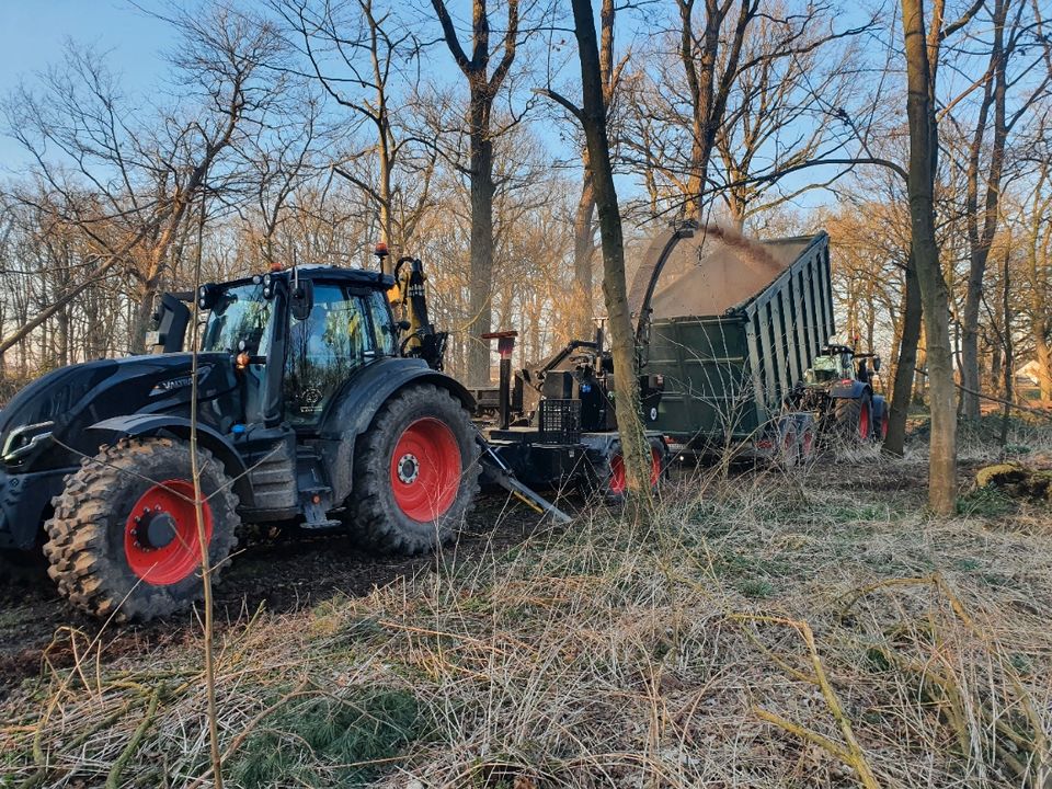
[[(231, 359), (243, 396), (240, 423), (318, 427), (348, 378), (397, 355), (391, 285), (376, 272), (329, 266), (202, 285), (197, 350)], [(148, 339), (153, 353), (183, 351), (192, 296), (162, 297)]]

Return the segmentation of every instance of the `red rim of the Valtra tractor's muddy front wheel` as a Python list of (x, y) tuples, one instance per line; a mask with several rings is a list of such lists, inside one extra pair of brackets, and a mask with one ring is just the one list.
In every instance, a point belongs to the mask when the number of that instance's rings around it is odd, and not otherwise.
[[(202, 503), (201, 514), (210, 544), (213, 516), (207, 502)], [(153, 586), (179, 583), (201, 567), (192, 482), (168, 480), (139, 496), (125, 521), (124, 556), (132, 572)]]

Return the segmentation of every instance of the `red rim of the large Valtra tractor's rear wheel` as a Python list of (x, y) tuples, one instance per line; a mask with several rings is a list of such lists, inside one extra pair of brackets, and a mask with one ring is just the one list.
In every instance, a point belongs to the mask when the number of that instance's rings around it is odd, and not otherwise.
[(460, 490), (460, 447), (449, 426), (436, 419), (409, 425), (391, 455), (395, 503), (407, 516), (427, 523), (445, 515)]

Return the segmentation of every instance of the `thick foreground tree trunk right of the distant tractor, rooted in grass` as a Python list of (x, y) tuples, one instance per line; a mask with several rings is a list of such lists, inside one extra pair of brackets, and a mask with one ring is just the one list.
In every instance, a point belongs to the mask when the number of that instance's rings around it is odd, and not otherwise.
[(902, 0), (905, 38), (906, 114), (910, 123), (910, 226), (921, 284), (927, 340), (931, 438), (928, 506), (939, 515), (957, 508), (957, 392), (950, 346), (950, 307), (935, 233), (935, 172), (938, 132), (925, 42), (923, 0)]

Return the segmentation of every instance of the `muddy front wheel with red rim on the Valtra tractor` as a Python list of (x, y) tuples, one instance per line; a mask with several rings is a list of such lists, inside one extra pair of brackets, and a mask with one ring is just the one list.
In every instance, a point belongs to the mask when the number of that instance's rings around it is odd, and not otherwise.
[[(198, 449), (208, 561), (216, 579), (237, 541), (238, 498), (222, 466)], [(148, 620), (199, 599), (190, 446), (170, 438), (103, 447), (66, 482), (45, 524), (59, 593), (88, 614)]]

